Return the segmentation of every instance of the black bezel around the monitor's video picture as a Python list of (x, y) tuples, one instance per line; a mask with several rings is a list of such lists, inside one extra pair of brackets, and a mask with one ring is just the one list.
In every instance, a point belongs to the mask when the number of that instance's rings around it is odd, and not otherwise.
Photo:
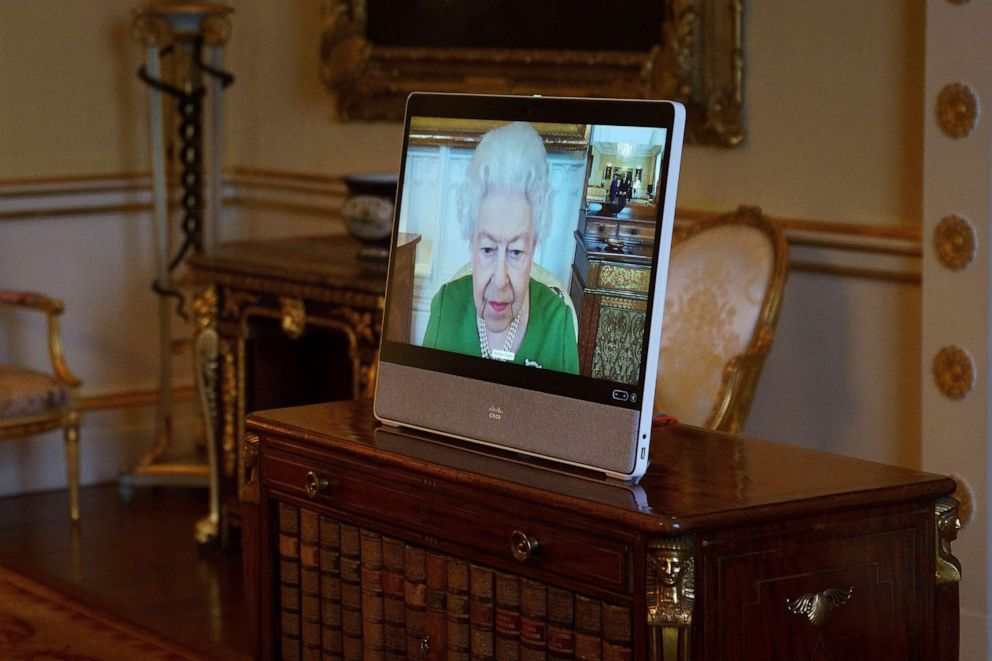
[[(675, 105), (663, 101), (412, 94), (407, 102), (407, 111), (404, 120), (403, 150), (397, 183), (391, 254), (395, 254), (400, 234), (398, 219), (403, 203), (410, 126), (413, 117), (663, 128), (666, 131), (658, 188), (659, 193), (667, 194), (668, 186), (666, 184), (669, 181), (672, 166), (672, 143), (676, 137), (673, 130), (675, 114)], [(593, 376), (569, 374), (553, 370), (534, 369), (532, 367), (503, 363), (467, 354), (427, 348), (413, 343), (408, 344), (388, 340), (388, 327), (391, 316), (389, 292), (393, 289), (391, 286), (387, 286), (380, 360), (428, 371), (471, 379), (482, 379), (494, 384), (560, 395), (582, 401), (592, 401), (624, 409), (642, 410), (644, 407), (645, 376), (649, 372), (649, 330), (651, 320), (654, 317), (655, 305), (663, 304), (663, 300), (656, 301), (656, 287), (659, 282), (657, 269), (668, 268), (667, 244), (665, 245), (665, 254), (663, 255), (664, 262), (659, 263), (659, 253), (662, 249), (663, 239), (671, 235), (670, 228), (669, 231), (663, 231), (662, 227), (665, 222), (665, 206), (666, 199), (659, 197), (656, 201), (655, 215), (655, 222), (658, 227), (655, 232), (655, 240), (651, 253), (653, 264), (652, 278), (650, 279), (649, 290), (647, 292), (647, 308), (645, 310), (645, 326), (641, 346), (641, 355), (643, 358), (636, 384), (620, 383)], [(389, 278), (387, 282), (389, 283), (392, 283), (392, 278), (395, 275), (395, 267), (391, 259), (387, 276)], [(660, 281), (663, 283), (665, 279), (661, 278)], [(617, 389), (624, 390), (630, 396), (624, 400), (617, 400), (614, 396)], [(653, 392), (653, 384), (650, 390)]]

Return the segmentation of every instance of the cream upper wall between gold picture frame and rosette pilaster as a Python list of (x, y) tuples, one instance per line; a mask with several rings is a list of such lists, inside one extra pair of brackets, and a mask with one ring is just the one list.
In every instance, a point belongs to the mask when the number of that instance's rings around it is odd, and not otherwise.
[(923, 3), (747, 2), (744, 144), (685, 150), (679, 203), (919, 223)]

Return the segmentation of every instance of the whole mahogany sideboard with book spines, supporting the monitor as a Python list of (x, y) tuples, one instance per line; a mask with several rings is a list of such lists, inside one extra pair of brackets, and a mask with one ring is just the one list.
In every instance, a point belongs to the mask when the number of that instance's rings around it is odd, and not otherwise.
[(260, 658), (957, 658), (944, 477), (675, 425), (625, 485), (369, 400), (247, 427)]

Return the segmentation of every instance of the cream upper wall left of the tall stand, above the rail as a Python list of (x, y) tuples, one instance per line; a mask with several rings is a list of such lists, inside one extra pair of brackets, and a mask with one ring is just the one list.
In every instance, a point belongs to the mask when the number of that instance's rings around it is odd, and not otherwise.
[(0, 2), (0, 180), (148, 169), (138, 4)]

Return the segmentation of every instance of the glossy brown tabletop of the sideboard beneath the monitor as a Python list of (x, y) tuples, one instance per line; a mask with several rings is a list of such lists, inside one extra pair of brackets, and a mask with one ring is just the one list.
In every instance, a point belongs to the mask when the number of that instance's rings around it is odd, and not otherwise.
[[(647, 532), (686, 534), (792, 512), (826, 512), (953, 492), (954, 482), (807, 448), (675, 425), (657, 428), (651, 467), (636, 485), (566, 475), (536, 462), (493, 461), (471, 444), (377, 424), (371, 400), (263, 411), (253, 429), (292, 429), (313, 447), (490, 488), (547, 506), (582, 506)], [(503, 454), (503, 457), (506, 455)]]

